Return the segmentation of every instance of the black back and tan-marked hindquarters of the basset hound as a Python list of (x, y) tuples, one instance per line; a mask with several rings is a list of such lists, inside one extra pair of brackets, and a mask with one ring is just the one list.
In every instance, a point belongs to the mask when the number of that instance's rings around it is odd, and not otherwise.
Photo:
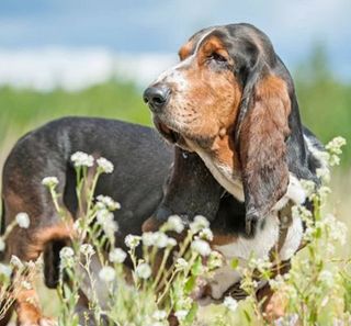
[(1, 231), (20, 212), (27, 213), (31, 221), (27, 229), (15, 227), (9, 236), (7, 260), (11, 255), (35, 259), (52, 238), (66, 237), (42, 180), (52, 176), (59, 180), (60, 204), (75, 218), (76, 175), (70, 156), (78, 150), (105, 157), (115, 166), (112, 175), (101, 177), (97, 194), (121, 202), (115, 220), (122, 239), (128, 233), (140, 233), (143, 221), (156, 210), (170, 170), (172, 148), (154, 130), (104, 119), (65, 117), (50, 122), (23, 136), (3, 167)]

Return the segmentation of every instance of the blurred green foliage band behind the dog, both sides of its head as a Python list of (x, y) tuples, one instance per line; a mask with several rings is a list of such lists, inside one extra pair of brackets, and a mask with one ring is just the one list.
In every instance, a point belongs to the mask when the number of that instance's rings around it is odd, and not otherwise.
[[(341, 135), (351, 142), (351, 85), (329, 72), (327, 58), (316, 46), (310, 58), (294, 76), (303, 122), (322, 142)], [(0, 88), (0, 148), (5, 136), (20, 136), (39, 124), (64, 115), (92, 115), (121, 119), (150, 125), (150, 114), (141, 91), (132, 83), (110, 80), (88, 89), (68, 92), (56, 89)], [(342, 159), (350, 165), (348, 145)]]

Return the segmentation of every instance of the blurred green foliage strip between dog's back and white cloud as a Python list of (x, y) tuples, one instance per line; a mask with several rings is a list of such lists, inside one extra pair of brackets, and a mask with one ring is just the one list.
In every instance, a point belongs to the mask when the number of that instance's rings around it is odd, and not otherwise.
[[(65, 115), (113, 117), (150, 124), (141, 91), (132, 83), (110, 80), (77, 92), (56, 89), (0, 88), (0, 144), (7, 134), (23, 134)], [(0, 147), (1, 148), (1, 147)]]

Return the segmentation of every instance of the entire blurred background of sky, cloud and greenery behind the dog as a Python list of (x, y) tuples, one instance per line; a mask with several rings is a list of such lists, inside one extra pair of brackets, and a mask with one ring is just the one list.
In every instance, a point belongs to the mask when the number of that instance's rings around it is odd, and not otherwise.
[[(350, 0), (1, 0), (0, 167), (21, 135), (55, 117), (150, 125), (143, 89), (194, 32), (234, 22), (271, 37), (293, 74), (304, 123), (322, 142), (351, 143), (350, 13)], [(348, 145), (331, 195), (343, 221), (350, 162)]]

